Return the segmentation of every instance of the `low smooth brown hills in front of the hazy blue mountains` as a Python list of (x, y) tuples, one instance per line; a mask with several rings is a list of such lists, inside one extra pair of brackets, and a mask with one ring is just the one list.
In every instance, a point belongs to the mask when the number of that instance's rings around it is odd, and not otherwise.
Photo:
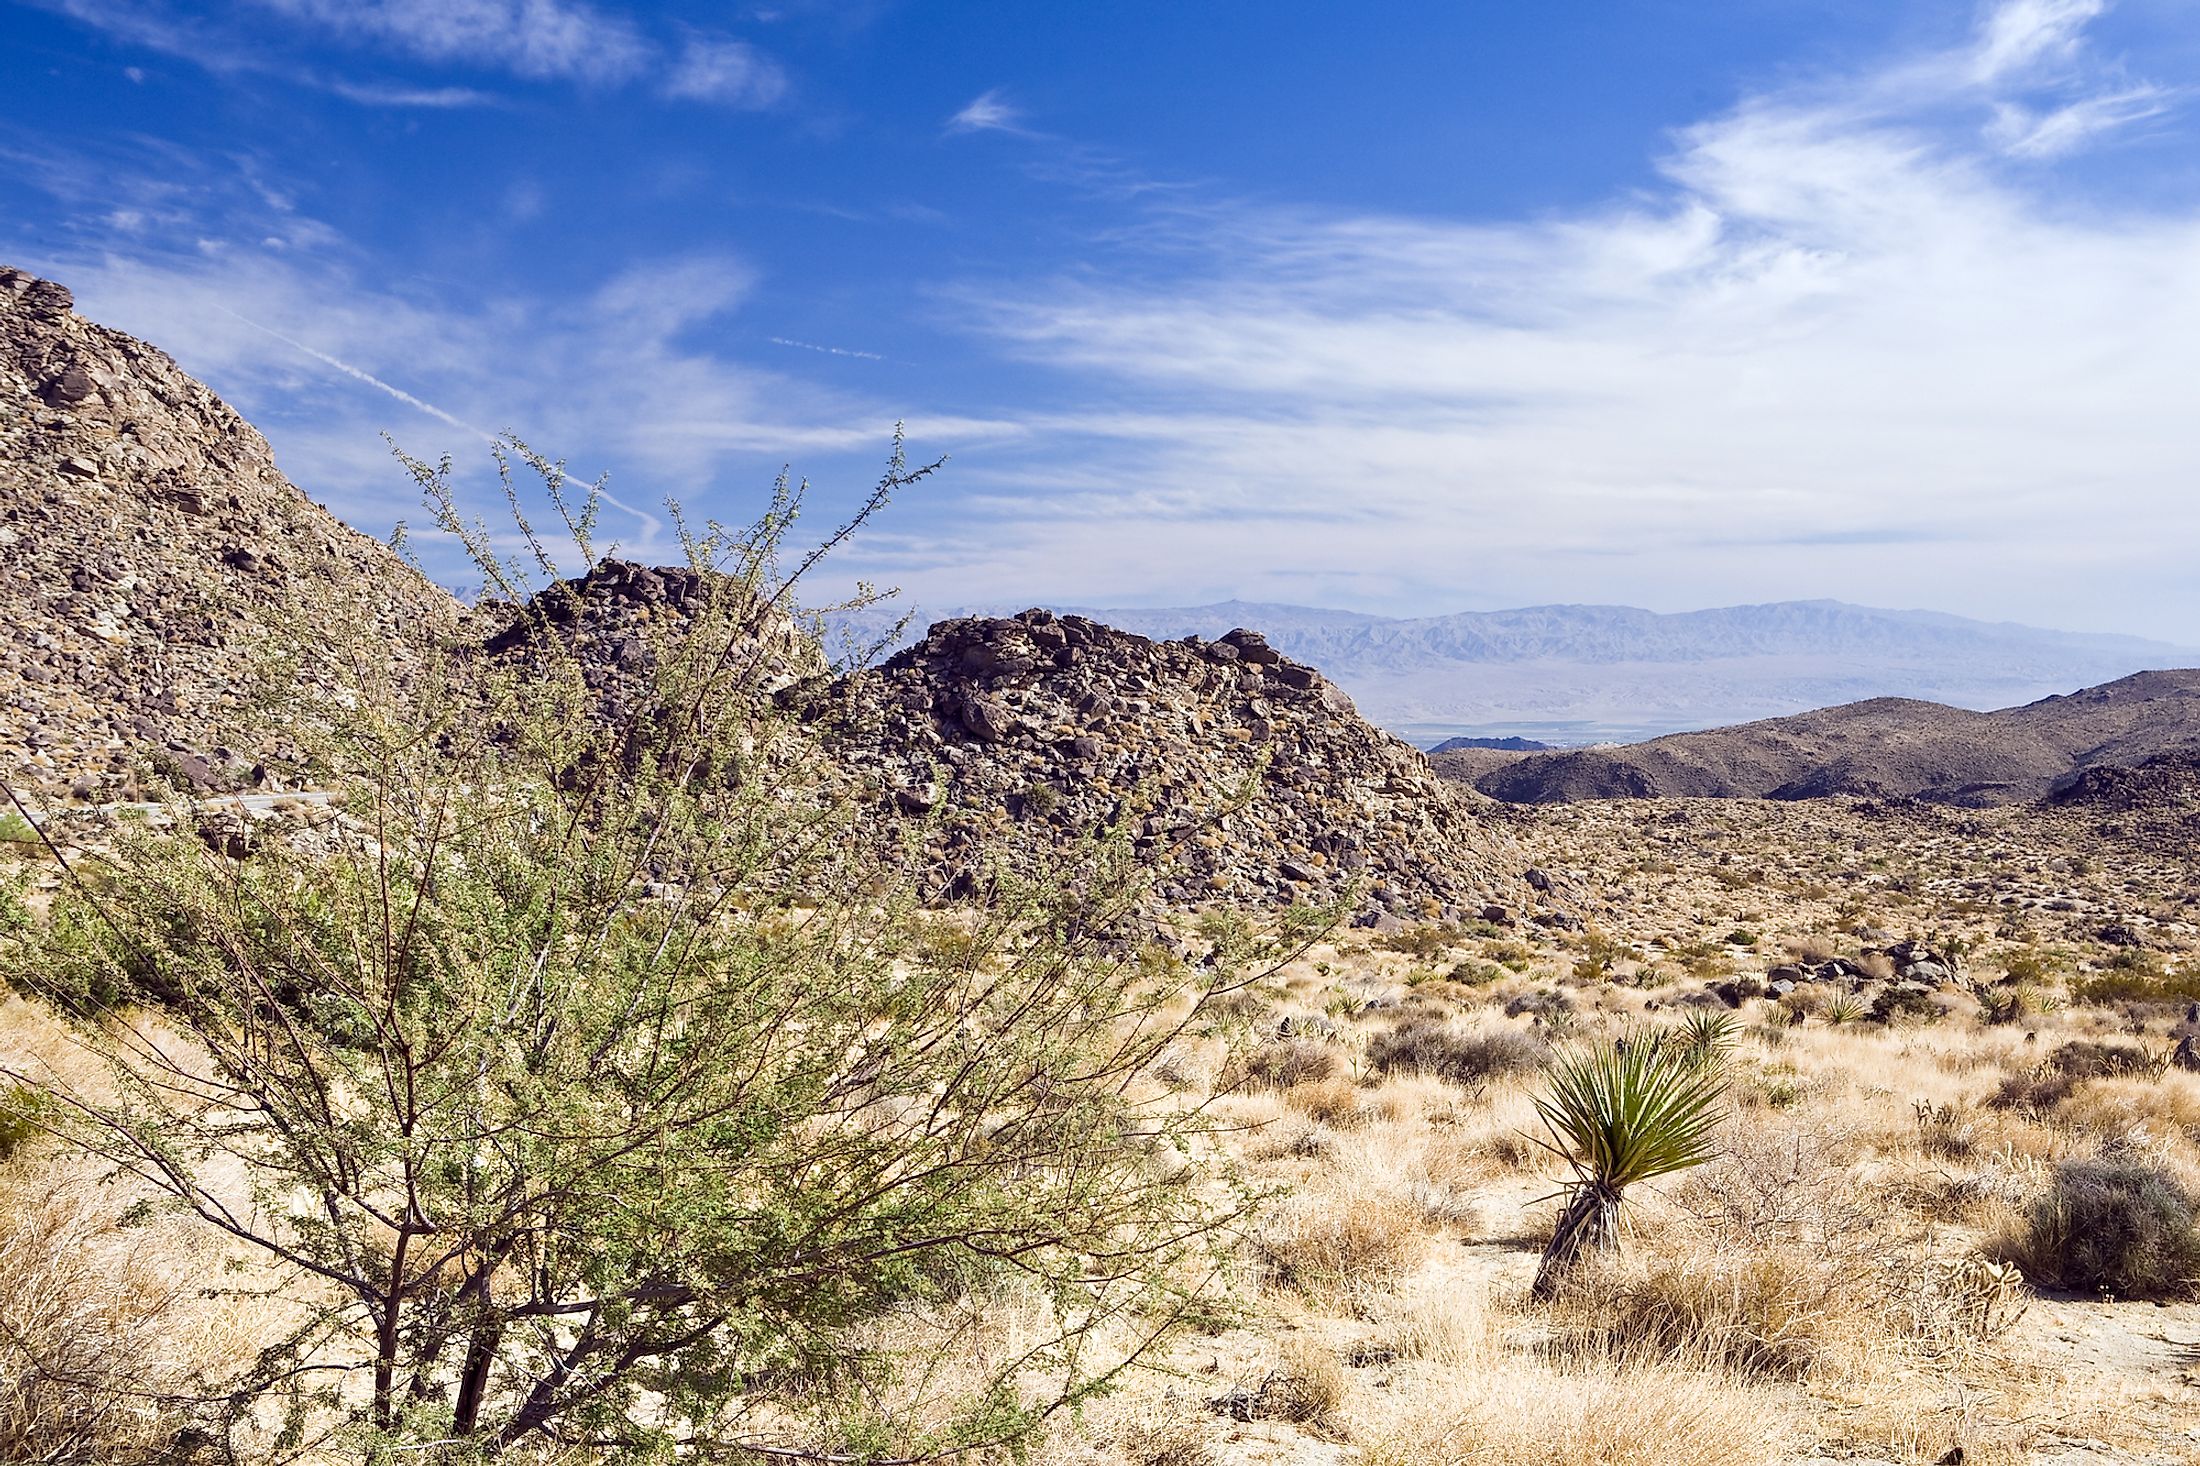
[(1995, 713), (1874, 698), (1643, 744), (1531, 753), (1470, 779), (1518, 803), (1877, 795), (1998, 806), (2193, 740), (2200, 671), (2143, 671)]

